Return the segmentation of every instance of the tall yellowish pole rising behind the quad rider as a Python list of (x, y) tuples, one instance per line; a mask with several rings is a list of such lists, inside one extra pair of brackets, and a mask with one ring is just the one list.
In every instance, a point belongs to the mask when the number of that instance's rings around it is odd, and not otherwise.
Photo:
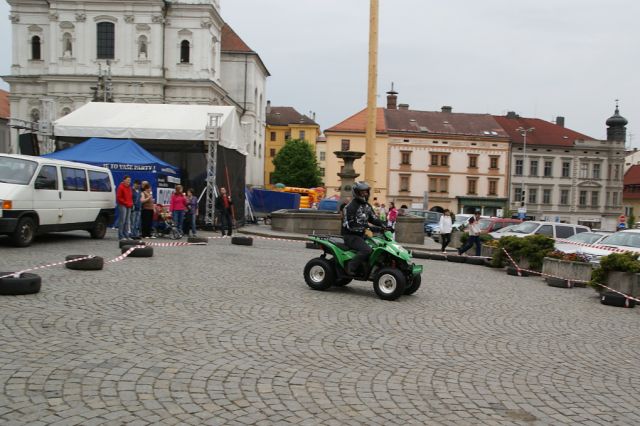
[(369, 84), (367, 87), (367, 128), (365, 144), (364, 179), (375, 188), (376, 158), (376, 92), (378, 87), (378, 0), (371, 1), (369, 20)]

